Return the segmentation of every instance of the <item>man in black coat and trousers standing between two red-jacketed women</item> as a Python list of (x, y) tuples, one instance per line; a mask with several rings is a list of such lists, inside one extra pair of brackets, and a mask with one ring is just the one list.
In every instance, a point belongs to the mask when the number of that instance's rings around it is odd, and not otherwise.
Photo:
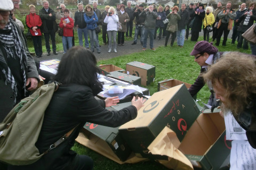
[(43, 8), (39, 10), (39, 16), (43, 22), (41, 31), (44, 33), (45, 47), (47, 50), (47, 56), (50, 56), (51, 47), (50, 47), (50, 36), (52, 40), (52, 50), (53, 54), (58, 55), (56, 52), (56, 43), (55, 43), (55, 32), (58, 30), (56, 23), (55, 12), (49, 7), (48, 1), (43, 1)]

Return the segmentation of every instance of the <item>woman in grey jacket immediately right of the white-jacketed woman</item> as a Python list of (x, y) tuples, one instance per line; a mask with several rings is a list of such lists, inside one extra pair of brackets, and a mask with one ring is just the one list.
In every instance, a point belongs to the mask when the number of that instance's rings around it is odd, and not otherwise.
[(117, 43), (118, 46), (124, 45), (124, 33), (127, 31), (126, 23), (130, 21), (129, 15), (125, 12), (125, 6), (122, 4), (120, 6), (120, 11), (117, 12), (119, 22), (121, 23), (122, 30), (118, 30), (117, 33)]

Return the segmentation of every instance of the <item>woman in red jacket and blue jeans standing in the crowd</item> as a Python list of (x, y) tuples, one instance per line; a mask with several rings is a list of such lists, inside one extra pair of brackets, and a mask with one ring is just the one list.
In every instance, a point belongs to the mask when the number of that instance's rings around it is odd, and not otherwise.
[(73, 38), (73, 28), (74, 28), (74, 20), (69, 17), (69, 10), (65, 9), (64, 17), (60, 19), (60, 28), (63, 29), (63, 36), (62, 36), (62, 45), (64, 54), (67, 53), (67, 45), (70, 49), (72, 45), (72, 38)]

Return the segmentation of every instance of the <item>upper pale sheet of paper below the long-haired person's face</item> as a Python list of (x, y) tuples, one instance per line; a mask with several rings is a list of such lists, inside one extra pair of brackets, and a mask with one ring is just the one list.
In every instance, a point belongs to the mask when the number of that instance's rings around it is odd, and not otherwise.
[(226, 139), (247, 140), (245, 130), (236, 122), (231, 112), (225, 115)]

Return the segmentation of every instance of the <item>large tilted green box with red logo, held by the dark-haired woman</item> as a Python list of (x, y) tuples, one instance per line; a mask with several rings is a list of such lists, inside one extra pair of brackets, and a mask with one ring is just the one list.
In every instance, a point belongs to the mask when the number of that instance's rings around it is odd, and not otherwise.
[(198, 115), (198, 107), (181, 84), (156, 92), (139, 110), (137, 118), (120, 126), (119, 132), (138, 157), (148, 157), (147, 147), (165, 126), (182, 141)]

